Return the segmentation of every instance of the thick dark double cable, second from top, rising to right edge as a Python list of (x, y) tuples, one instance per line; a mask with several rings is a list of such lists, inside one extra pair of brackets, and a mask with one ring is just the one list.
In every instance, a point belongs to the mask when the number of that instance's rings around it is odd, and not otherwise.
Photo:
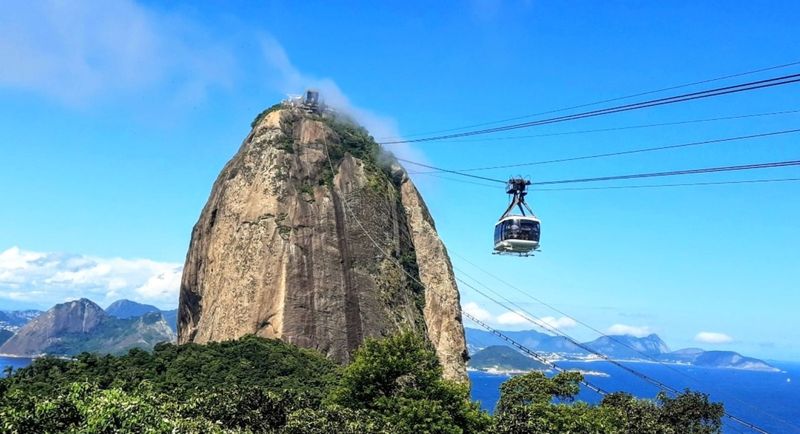
[(518, 124), (503, 125), (503, 126), (499, 126), (499, 127), (487, 128), (487, 129), (482, 129), (482, 130), (465, 131), (465, 132), (462, 132), (462, 133), (455, 133), (455, 134), (447, 134), (447, 135), (431, 136), (431, 137), (422, 137), (422, 138), (417, 138), (417, 139), (387, 141), (387, 142), (383, 142), (382, 144), (383, 145), (390, 145), (390, 144), (399, 144), (399, 143), (429, 142), (429, 141), (434, 141), (434, 140), (452, 139), (452, 138), (457, 138), (457, 137), (467, 137), (467, 136), (475, 136), (475, 135), (482, 135), (482, 134), (491, 134), (491, 133), (496, 133), (496, 132), (500, 132), (500, 131), (509, 131), (509, 130), (520, 129), (520, 128), (530, 128), (530, 127), (539, 126), (539, 125), (548, 125), (548, 124), (566, 122), (566, 121), (571, 121), (571, 120), (585, 119), (585, 118), (591, 118), (591, 117), (596, 117), (596, 116), (601, 116), (601, 115), (607, 115), (607, 114), (613, 114), (613, 113), (621, 113), (621, 112), (626, 112), (626, 111), (631, 111), (631, 110), (638, 110), (638, 109), (642, 109), (642, 108), (655, 107), (655, 106), (668, 105), (668, 104), (675, 104), (675, 103), (678, 103), (678, 102), (692, 101), (692, 100), (696, 100), (696, 99), (711, 98), (711, 97), (715, 97), (715, 96), (728, 95), (728, 94), (739, 93), (739, 92), (746, 92), (746, 91), (751, 91), (751, 90), (756, 90), (756, 89), (763, 89), (763, 88), (774, 87), (774, 86), (781, 86), (781, 85), (785, 85), (785, 84), (796, 83), (798, 81), (800, 81), (800, 74), (790, 74), (790, 75), (785, 75), (785, 76), (781, 76), (781, 77), (769, 78), (769, 79), (765, 79), (765, 80), (752, 81), (752, 82), (748, 82), (748, 83), (741, 83), (741, 84), (736, 84), (736, 85), (732, 85), (732, 86), (725, 86), (725, 87), (720, 87), (720, 88), (715, 88), (715, 89), (708, 89), (708, 90), (703, 90), (703, 91), (699, 91), (699, 92), (692, 92), (692, 93), (687, 93), (687, 94), (682, 94), (682, 95), (674, 95), (674, 96), (670, 96), (670, 97), (666, 97), (666, 98), (659, 98), (659, 99), (655, 99), (655, 100), (642, 101), (642, 102), (626, 104), (626, 105), (616, 106), (616, 107), (608, 107), (608, 108), (604, 108), (604, 109), (592, 110), (592, 111), (588, 111), (588, 112), (565, 115), (565, 116), (559, 116), (559, 117), (555, 117), (555, 118), (542, 119), (542, 120), (531, 121), (531, 122), (523, 122), (523, 123), (518, 123)]

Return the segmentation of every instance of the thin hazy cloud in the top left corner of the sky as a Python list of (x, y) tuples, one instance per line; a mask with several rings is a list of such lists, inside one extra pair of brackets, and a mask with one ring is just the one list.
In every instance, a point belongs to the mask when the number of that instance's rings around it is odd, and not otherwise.
[(230, 83), (233, 64), (207, 33), (131, 0), (10, 2), (0, 14), (0, 86), (69, 105), (163, 83), (175, 99), (202, 99)]

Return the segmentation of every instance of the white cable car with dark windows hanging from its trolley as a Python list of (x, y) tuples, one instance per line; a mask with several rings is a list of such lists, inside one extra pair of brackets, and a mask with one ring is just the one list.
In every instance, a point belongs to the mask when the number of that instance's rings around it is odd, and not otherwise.
[[(494, 254), (530, 256), (539, 249), (541, 222), (533, 210), (525, 202), (528, 186), (531, 181), (523, 178), (511, 178), (506, 185), (506, 193), (512, 195), (506, 212), (494, 226)], [(518, 207), (521, 215), (511, 214)], [(528, 210), (530, 215), (525, 214)]]

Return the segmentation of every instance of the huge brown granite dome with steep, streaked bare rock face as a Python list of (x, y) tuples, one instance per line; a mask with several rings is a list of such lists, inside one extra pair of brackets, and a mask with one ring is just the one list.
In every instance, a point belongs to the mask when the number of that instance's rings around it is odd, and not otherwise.
[(179, 343), (254, 333), (347, 362), (400, 329), (425, 333), (445, 376), (466, 381), (459, 295), (422, 198), (363, 129), (273, 107), (192, 231)]

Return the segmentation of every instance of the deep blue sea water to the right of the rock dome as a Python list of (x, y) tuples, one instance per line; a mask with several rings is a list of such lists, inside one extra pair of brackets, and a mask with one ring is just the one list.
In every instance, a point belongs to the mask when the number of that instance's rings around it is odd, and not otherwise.
[[(626, 362), (672, 388), (708, 393), (713, 401), (725, 404), (725, 410), (771, 433), (800, 434), (800, 363), (772, 363), (782, 372), (758, 372), (736, 369), (711, 369), (656, 363)], [(607, 391), (626, 391), (642, 398), (654, 398), (658, 388), (608, 362), (561, 362), (559, 366), (583, 371), (598, 371), (608, 377), (586, 376), (589, 383)], [(510, 378), (483, 372), (470, 372), (472, 398), (489, 411), (500, 396), (500, 384)], [(600, 396), (582, 390), (579, 399), (598, 402)], [(725, 433), (751, 432), (725, 418)]]

